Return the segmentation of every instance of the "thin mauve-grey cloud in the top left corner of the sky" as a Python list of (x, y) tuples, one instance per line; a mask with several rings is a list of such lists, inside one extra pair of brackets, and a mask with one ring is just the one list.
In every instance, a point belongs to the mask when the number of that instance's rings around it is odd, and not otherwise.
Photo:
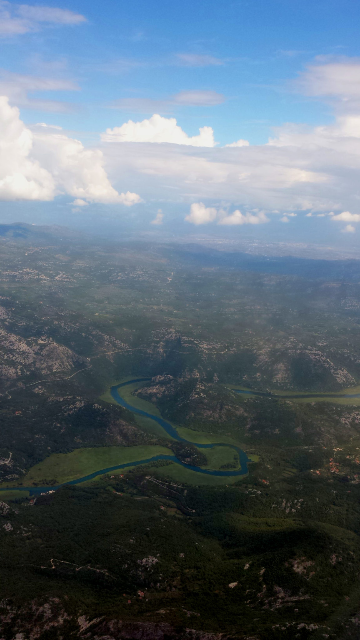
[(0, 35), (3, 36), (38, 31), (44, 23), (47, 25), (73, 25), (81, 22), (86, 22), (85, 16), (69, 9), (0, 1)]

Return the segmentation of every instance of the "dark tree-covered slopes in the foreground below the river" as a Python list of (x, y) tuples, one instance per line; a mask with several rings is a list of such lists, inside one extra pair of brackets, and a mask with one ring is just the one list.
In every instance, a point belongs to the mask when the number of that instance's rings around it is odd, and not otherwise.
[[(339, 628), (345, 632), (341, 616), (356, 612), (359, 543), (350, 529), (327, 524), (332, 517), (323, 507), (313, 514), (322, 522), (301, 509), (271, 509), (279, 489), (261, 490), (253, 499), (251, 490), (258, 490), (248, 482), (222, 490), (182, 488), (193, 515), (174, 515), (170, 493), (151, 497), (143, 477), (64, 487), (35, 506), (9, 503), (2, 520), (12, 530), (0, 529), (6, 607), (52, 596), (69, 615), (90, 618), (106, 612), (149, 621), (164, 609), (164, 620), (177, 628), (189, 625), (186, 611), (192, 611), (193, 628), (236, 637), (256, 630), (261, 640), (290, 640), (295, 621), (318, 627), (316, 633), (301, 627), (302, 638), (323, 637), (321, 625), (329, 637), (341, 637)], [(315, 492), (306, 500), (316, 502)], [(352, 505), (358, 516), (354, 497)], [(286, 633), (278, 634), (279, 623)], [(61, 632), (73, 631), (72, 624)], [(11, 625), (3, 628), (3, 637), (11, 638)]]

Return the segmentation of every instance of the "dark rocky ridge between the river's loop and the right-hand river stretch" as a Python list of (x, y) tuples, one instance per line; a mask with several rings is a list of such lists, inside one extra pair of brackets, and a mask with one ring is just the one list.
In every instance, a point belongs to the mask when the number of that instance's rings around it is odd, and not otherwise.
[(240, 442), (327, 447), (360, 435), (356, 407), (247, 397), (199, 378), (154, 376), (135, 395), (155, 404), (170, 422), (234, 435)]

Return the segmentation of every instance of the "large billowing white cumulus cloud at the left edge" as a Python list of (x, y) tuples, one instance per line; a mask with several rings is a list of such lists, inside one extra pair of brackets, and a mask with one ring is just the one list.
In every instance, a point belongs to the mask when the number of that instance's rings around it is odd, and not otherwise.
[[(60, 194), (86, 202), (140, 202), (136, 193), (119, 194), (103, 167), (99, 149), (40, 125), (31, 131), (19, 109), (0, 97), (0, 198), (53, 200)], [(74, 204), (79, 205), (79, 202)]]

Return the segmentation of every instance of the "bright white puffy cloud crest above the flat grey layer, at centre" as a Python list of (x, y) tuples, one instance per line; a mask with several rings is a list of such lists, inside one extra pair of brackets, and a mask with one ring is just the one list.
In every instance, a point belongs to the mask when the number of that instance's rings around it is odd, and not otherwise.
[(213, 129), (201, 127), (199, 136), (189, 136), (177, 125), (175, 118), (163, 118), (154, 114), (149, 120), (133, 122), (129, 120), (121, 127), (106, 129), (101, 134), (105, 142), (169, 142), (176, 145), (193, 147), (213, 147), (215, 145)]

